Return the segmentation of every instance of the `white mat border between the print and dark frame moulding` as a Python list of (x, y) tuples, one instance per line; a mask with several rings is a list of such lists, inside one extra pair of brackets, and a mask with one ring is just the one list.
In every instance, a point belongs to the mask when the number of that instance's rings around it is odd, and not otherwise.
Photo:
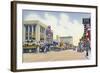
[[(88, 12), (91, 13), (91, 59), (74, 61), (54, 61), (54, 62), (32, 62), (22, 63), (22, 9), (29, 10), (49, 10), (49, 11), (69, 11), (69, 12)], [(45, 6), (31, 4), (17, 4), (17, 69), (32, 68), (52, 68), (68, 66), (95, 65), (96, 61), (96, 9), (84, 7), (65, 7), (65, 6)], [(95, 41), (95, 42), (94, 42)]]

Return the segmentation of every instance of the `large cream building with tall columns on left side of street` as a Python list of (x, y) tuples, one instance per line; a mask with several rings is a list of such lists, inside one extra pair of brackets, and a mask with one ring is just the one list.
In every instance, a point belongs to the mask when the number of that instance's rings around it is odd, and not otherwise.
[(45, 41), (47, 26), (40, 21), (24, 21), (23, 22), (23, 42), (25, 41)]

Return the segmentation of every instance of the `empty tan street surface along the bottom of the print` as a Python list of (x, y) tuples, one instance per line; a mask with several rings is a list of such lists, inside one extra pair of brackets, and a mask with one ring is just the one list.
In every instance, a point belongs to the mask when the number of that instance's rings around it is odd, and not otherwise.
[(58, 61), (58, 60), (82, 60), (86, 59), (85, 53), (73, 50), (50, 51), (47, 53), (24, 53), (23, 62)]

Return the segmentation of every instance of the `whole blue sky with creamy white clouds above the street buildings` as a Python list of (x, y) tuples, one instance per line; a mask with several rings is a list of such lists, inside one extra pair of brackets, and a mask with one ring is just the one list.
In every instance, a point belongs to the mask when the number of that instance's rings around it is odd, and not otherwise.
[(90, 13), (23, 10), (23, 21), (39, 20), (45, 25), (50, 25), (53, 30), (53, 38), (58, 36), (72, 36), (73, 44), (78, 45), (79, 39), (84, 33), (82, 18), (90, 18)]

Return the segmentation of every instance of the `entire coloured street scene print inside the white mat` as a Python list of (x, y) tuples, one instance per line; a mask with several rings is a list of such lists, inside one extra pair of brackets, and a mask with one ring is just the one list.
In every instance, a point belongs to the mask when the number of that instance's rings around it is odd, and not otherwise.
[(91, 14), (22, 11), (22, 61), (71, 61), (91, 58)]

